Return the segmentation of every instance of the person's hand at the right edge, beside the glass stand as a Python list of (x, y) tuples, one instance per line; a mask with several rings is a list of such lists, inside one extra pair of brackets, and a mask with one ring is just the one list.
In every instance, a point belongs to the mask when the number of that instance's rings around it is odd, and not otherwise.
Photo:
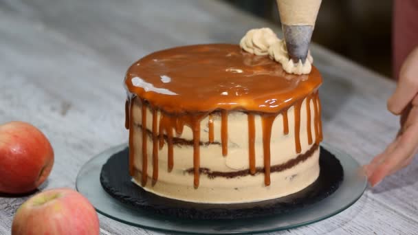
[(418, 152), (418, 47), (406, 58), (388, 110), (401, 115), (401, 128), (386, 150), (364, 166), (372, 186), (410, 164)]

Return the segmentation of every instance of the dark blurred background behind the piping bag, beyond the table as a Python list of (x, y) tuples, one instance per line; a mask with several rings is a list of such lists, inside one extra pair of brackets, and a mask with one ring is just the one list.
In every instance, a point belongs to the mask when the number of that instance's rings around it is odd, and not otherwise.
[[(280, 24), (276, 0), (223, 0)], [(391, 0), (322, 0), (312, 41), (393, 77)]]

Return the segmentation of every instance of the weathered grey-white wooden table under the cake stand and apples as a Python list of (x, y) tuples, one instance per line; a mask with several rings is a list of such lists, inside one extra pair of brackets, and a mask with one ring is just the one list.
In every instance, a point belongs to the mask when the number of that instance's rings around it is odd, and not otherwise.
[[(279, 32), (219, 1), (0, 0), (0, 123), (41, 128), (56, 157), (41, 190), (74, 188), (89, 158), (127, 141), (122, 78), (134, 60), (177, 45), (237, 43), (254, 27)], [(365, 164), (397, 131), (386, 111), (395, 84), (318, 45), (312, 52), (325, 78), (325, 141)], [(344, 212), (283, 234), (417, 234), (417, 163)], [(0, 197), (0, 234), (10, 234), (27, 198)], [(100, 226), (102, 234), (159, 234), (104, 216)]]

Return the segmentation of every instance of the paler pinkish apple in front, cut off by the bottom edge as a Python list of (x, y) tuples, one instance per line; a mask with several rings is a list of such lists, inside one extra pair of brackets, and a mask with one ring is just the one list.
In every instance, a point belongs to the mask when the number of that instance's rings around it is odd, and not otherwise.
[(99, 230), (96, 210), (69, 188), (34, 195), (17, 210), (12, 223), (12, 235), (94, 235)]

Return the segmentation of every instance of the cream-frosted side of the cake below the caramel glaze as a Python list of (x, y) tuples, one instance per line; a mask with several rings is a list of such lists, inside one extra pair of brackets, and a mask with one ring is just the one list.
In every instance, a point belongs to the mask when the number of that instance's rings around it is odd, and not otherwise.
[[(314, 99), (316, 93), (314, 93)], [(250, 125), (248, 113), (228, 112), (226, 142), (228, 155), (223, 156), (222, 115), (212, 113), (200, 122), (199, 143), (199, 188), (193, 187), (195, 180), (193, 137), (190, 126), (184, 126), (180, 135), (173, 137), (168, 145), (166, 136), (153, 138), (153, 120), (162, 120), (161, 111), (153, 112), (146, 106), (146, 155), (142, 153), (142, 103), (133, 106), (133, 179), (145, 190), (163, 197), (194, 201), (199, 203), (240, 203), (284, 197), (309, 186), (319, 175), (318, 142), (321, 133), (318, 116), (318, 102), (303, 100), (300, 111), (291, 107), (287, 120), (283, 114), (274, 118), (271, 127), (270, 174), (265, 173), (265, 143), (263, 142), (262, 116), (254, 114), (254, 171), (250, 166)], [(139, 99), (138, 99), (139, 100)], [(309, 100), (309, 109), (307, 106)], [(309, 110), (309, 111), (308, 111)], [(299, 112), (299, 114), (297, 113)], [(309, 114), (309, 115), (308, 115)], [(155, 115), (156, 117), (153, 117)], [(209, 117), (211, 116), (211, 117)], [(299, 117), (297, 117), (299, 116)], [(309, 117), (308, 117), (309, 116)], [(295, 121), (300, 120), (299, 131)], [(285, 124), (287, 122), (287, 124)], [(211, 124), (210, 124), (211, 123)], [(157, 122), (158, 129), (159, 122)], [(210, 127), (212, 126), (212, 134)], [(287, 126), (287, 131), (285, 130)], [(212, 139), (211, 139), (211, 135)], [(300, 152), (296, 149), (296, 135), (299, 135)], [(309, 137), (310, 136), (310, 137)], [(163, 139), (162, 148), (155, 151), (155, 139)], [(171, 149), (170, 149), (171, 148)], [(170, 156), (169, 152), (173, 153)], [(146, 157), (146, 181), (144, 183), (144, 156)], [(157, 160), (155, 160), (157, 159)], [(170, 170), (171, 169), (171, 170)], [(157, 172), (157, 174), (155, 173)], [(268, 177), (267, 177), (268, 176)], [(270, 181), (266, 183), (266, 179)]]

